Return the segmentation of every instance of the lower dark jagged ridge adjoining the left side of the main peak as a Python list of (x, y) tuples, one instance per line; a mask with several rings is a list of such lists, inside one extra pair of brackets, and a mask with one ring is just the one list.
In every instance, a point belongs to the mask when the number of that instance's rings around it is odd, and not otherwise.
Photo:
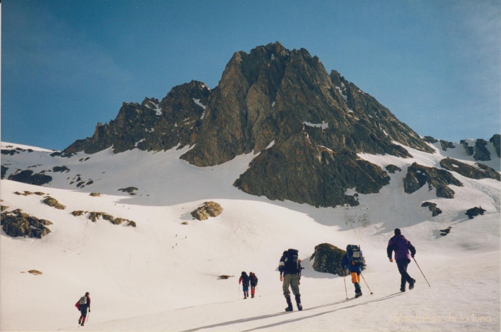
[(145, 98), (141, 104), (124, 103), (115, 120), (98, 123), (92, 137), (77, 140), (63, 152), (95, 153), (113, 146), (119, 153), (134, 148), (168, 150), (194, 143), (210, 90), (201, 82), (176, 86), (158, 101)]

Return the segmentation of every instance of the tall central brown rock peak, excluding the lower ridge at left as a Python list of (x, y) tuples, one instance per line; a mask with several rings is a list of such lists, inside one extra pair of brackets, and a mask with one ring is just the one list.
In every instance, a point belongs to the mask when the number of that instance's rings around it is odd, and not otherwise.
[(375, 193), (386, 172), (355, 152), (430, 151), (419, 136), (308, 51), (280, 43), (233, 55), (210, 95), (196, 145), (181, 158), (197, 166), (260, 153), (234, 183), (253, 195), (314, 206), (357, 205), (344, 194)]

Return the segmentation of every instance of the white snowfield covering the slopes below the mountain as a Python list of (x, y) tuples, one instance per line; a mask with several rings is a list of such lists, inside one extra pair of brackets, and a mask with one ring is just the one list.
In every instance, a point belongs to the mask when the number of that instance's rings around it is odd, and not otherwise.
[[(490, 143), (489, 143), (490, 145)], [(493, 179), (472, 180), (453, 173), (464, 186), (451, 186), (453, 199), (438, 198), (425, 185), (403, 191), (407, 167), (414, 161), (440, 167), (447, 156), (471, 165), (457, 145), (434, 154), (406, 147), (414, 158), (359, 154), (381, 167), (394, 164), (380, 193), (359, 194), (356, 207), (315, 208), (271, 201), (232, 186), (256, 155), (242, 155), (214, 167), (195, 167), (179, 159), (186, 149), (139, 150), (113, 154), (110, 149), (70, 158), (54, 151), (2, 143), (22, 149), (2, 155), (6, 178), (17, 169), (46, 170), (50, 184), (1, 180), (2, 205), (53, 222), (42, 239), (0, 235), (0, 330), (38, 331), (499, 331), (500, 330), (500, 190)], [(491, 148), (491, 147), (489, 147)], [(500, 171), (499, 158), (484, 163)], [(69, 171), (54, 172), (54, 166)], [(77, 183), (84, 185), (77, 187)], [(135, 195), (119, 189), (135, 187)], [(15, 192), (43, 192), (18, 195)], [(101, 193), (93, 197), (91, 192)], [(349, 190), (347, 194), (354, 194)], [(50, 195), (66, 206), (50, 207)], [(223, 207), (221, 215), (194, 220), (190, 212), (205, 201)], [(436, 203), (431, 216), (423, 202)], [(468, 219), (467, 209), (484, 215)], [(136, 222), (114, 225), (73, 216), (72, 211), (100, 211)], [(183, 224), (187, 223), (187, 224)], [(393, 229), (416, 247), (409, 274), (413, 290), (399, 291), (396, 264), (386, 257)], [(446, 236), (440, 230), (451, 227)], [(360, 244), (367, 269), (363, 296), (353, 298), (349, 277), (312, 268), (315, 246), (342, 249)], [(303, 311), (285, 312), (278, 262), (288, 248), (303, 259)], [(29, 270), (42, 274), (31, 274)], [(255, 298), (243, 300), (241, 271), (259, 278)], [(231, 275), (220, 279), (220, 275)], [(370, 290), (369, 290), (369, 288)], [(91, 312), (85, 326), (75, 302), (86, 291)], [(371, 294), (371, 291), (373, 294)]]

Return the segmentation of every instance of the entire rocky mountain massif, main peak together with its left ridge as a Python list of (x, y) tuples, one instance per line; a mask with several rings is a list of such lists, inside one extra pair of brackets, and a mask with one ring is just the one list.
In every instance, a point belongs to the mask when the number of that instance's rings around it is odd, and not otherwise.
[[(396, 142), (396, 143), (395, 143)], [(255, 153), (234, 185), (253, 195), (314, 206), (357, 205), (389, 183), (357, 153), (411, 157), (434, 150), (373, 97), (307, 50), (280, 43), (236, 52), (216, 88), (192, 81), (158, 101), (124, 103), (115, 120), (64, 153), (192, 147), (181, 156), (212, 166)]]

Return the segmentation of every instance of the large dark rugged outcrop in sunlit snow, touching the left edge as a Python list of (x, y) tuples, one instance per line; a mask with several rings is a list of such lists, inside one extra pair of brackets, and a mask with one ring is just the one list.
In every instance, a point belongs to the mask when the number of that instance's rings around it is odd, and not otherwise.
[(9, 236), (42, 238), (51, 232), (47, 225), (52, 225), (52, 222), (39, 219), (18, 209), (11, 212), (2, 212), (0, 224), (4, 232)]

